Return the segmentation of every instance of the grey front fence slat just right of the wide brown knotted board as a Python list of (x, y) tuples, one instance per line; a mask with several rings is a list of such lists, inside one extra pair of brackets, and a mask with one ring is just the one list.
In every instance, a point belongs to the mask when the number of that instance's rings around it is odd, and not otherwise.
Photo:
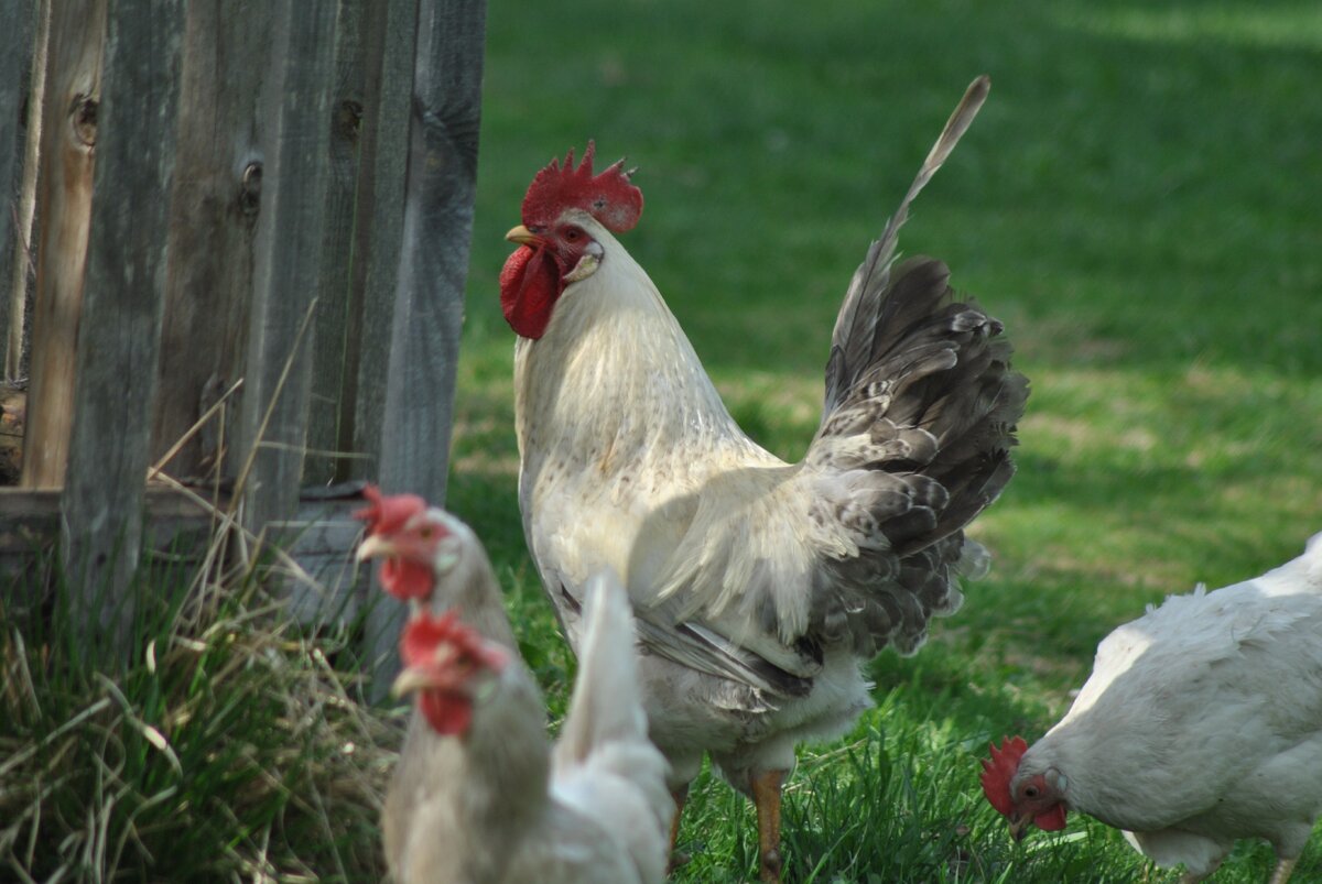
[(336, 8), (280, 0), (275, 18), (238, 451), (251, 457), (239, 480), (254, 530), (288, 518), (299, 501), (312, 374), (312, 342), (300, 332), (309, 328), (325, 234)]

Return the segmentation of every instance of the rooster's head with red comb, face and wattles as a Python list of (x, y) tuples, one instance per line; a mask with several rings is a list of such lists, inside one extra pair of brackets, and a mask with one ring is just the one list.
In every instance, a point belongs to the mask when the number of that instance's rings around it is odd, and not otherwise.
[(524, 223), (505, 234), (520, 248), (501, 271), (500, 303), (522, 337), (542, 337), (564, 287), (600, 266), (599, 231), (624, 233), (642, 214), (642, 192), (629, 184), (624, 160), (592, 174), (594, 152), (588, 141), (576, 168), (570, 149), (563, 166), (551, 160), (538, 172), (524, 197)]

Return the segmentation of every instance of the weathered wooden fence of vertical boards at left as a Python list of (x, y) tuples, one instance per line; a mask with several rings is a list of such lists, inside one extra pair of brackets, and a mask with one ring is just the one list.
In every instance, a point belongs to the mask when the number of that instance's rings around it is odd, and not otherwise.
[(159, 522), (214, 521), (194, 496), (336, 567), (352, 501), (327, 489), (444, 498), (484, 18), (0, 0), (0, 350), (24, 424), (0, 556), (58, 534), (89, 626)]

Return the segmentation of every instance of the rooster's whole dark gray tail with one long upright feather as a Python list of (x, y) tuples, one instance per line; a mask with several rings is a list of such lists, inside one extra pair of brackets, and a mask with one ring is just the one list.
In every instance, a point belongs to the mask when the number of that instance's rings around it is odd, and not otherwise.
[[(1010, 369), (1002, 325), (960, 303), (949, 270), (914, 258), (892, 267), (908, 206), (968, 129), (990, 87), (973, 81), (917, 177), (854, 274), (836, 321), (826, 396), (809, 460), (820, 468), (866, 469), (878, 489), (871, 521), (884, 548), (834, 563), (824, 593), (824, 632), (854, 633), (859, 653), (883, 644), (911, 653), (927, 620), (960, 604), (953, 575), (964, 526), (997, 498), (1014, 473), (1010, 448), (1027, 381)], [(869, 444), (859, 444), (862, 433)], [(829, 437), (855, 440), (833, 444)], [(820, 444), (818, 444), (820, 443)], [(855, 478), (855, 499), (867, 498)], [(850, 612), (858, 612), (851, 614)]]

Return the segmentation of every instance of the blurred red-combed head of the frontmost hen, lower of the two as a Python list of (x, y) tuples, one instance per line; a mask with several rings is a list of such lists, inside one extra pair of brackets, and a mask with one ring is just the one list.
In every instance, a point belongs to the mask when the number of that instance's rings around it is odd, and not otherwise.
[(427, 612), (408, 621), (399, 638), (405, 670), (391, 686), (395, 696), (416, 692), (418, 708), (442, 736), (468, 732), (473, 703), (509, 662), (498, 646), (465, 626), (453, 610)]

